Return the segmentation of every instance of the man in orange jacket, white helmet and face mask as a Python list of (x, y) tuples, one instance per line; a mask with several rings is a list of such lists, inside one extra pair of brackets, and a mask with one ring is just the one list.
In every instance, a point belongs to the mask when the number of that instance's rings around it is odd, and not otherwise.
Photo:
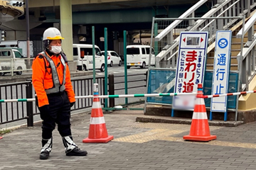
[(75, 93), (70, 81), (67, 58), (61, 50), (61, 36), (57, 28), (48, 28), (43, 33), (45, 50), (39, 53), (32, 64), (32, 82), (36, 91), (36, 104), (42, 123), (42, 149), (40, 159), (48, 159), (53, 146), (52, 132), (55, 123), (63, 138), (67, 156), (86, 156), (73, 142), (70, 130), (70, 108), (75, 103)]

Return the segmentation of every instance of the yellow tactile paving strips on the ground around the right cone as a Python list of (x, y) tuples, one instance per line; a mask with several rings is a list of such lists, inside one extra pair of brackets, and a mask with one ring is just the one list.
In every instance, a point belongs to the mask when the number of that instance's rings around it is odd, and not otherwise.
[[(133, 125), (132, 128), (146, 128), (151, 130), (147, 132), (141, 132), (135, 135), (129, 135), (126, 137), (119, 137), (117, 139), (114, 139), (113, 141), (132, 142), (132, 143), (144, 143), (144, 142), (149, 142), (151, 140), (190, 142), (190, 141), (183, 140), (182, 137), (171, 137), (171, 135), (176, 135), (182, 132), (188, 132), (189, 134), (191, 125), (168, 124), (168, 123), (139, 123), (137, 125)], [(218, 130), (220, 128), (223, 128), (223, 127), (210, 126), (210, 130)], [(223, 146), (223, 147), (256, 148), (256, 144), (252, 144), (252, 143), (225, 142), (225, 141), (218, 141), (218, 140), (212, 140), (209, 142), (193, 142), (193, 143), (205, 144), (205, 145), (216, 145), (216, 146)]]

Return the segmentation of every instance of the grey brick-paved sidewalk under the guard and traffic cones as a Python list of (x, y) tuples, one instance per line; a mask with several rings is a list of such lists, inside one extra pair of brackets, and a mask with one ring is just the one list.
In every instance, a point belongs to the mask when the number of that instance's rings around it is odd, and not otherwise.
[(86, 149), (86, 157), (66, 157), (58, 130), (53, 131), (53, 151), (39, 159), (41, 123), (18, 128), (0, 140), (0, 170), (7, 169), (255, 169), (256, 123), (236, 127), (210, 126), (217, 140), (188, 142), (190, 125), (140, 123), (143, 111), (105, 113), (109, 135), (105, 144), (85, 144), (90, 114), (72, 115), (75, 143)]

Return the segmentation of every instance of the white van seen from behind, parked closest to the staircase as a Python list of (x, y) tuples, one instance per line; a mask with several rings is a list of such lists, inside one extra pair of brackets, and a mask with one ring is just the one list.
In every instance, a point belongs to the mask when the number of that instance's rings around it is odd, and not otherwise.
[[(144, 69), (149, 65), (149, 45), (127, 45), (127, 69), (139, 66)], [(151, 50), (151, 65), (155, 65), (154, 49)]]

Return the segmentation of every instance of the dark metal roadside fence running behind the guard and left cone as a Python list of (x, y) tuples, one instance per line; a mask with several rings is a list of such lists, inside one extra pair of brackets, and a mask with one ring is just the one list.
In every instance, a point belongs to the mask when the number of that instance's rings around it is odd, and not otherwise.
[[(145, 75), (144, 79), (137, 79), (141, 87), (146, 90), (146, 74), (128, 75), (127, 77), (136, 77)], [(117, 77), (118, 78), (118, 77)], [(90, 96), (93, 95), (93, 77), (72, 78), (73, 89), (75, 96)], [(95, 77), (95, 83), (99, 84), (99, 95), (104, 95), (104, 76)], [(127, 83), (135, 82), (133, 80), (127, 81)], [(114, 75), (110, 74), (108, 77), (108, 91), (109, 94), (114, 94), (114, 84), (122, 84), (124, 82), (114, 82)], [(138, 86), (130, 86), (129, 89), (136, 89)], [(35, 98), (35, 90), (31, 81), (16, 82), (12, 84), (0, 84), (0, 97), (1, 99), (18, 99), (18, 98)], [(110, 107), (114, 107), (110, 102)], [(105, 104), (105, 98), (100, 99), (102, 106)], [(75, 105), (71, 108), (71, 111), (90, 108), (92, 107), (92, 98), (77, 98)], [(6, 123), (16, 122), (18, 120), (27, 120), (28, 126), (33, 126), (33, 116), (38, 115), (39, 111), (36, 106), (36, 101), (31, 102), (11, 102), (0, 103), (0, 125)]]

